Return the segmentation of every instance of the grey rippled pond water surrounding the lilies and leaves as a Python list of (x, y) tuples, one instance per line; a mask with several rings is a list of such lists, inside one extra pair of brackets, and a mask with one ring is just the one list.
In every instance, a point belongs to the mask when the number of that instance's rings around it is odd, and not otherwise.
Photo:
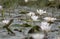
[[(39, 8), (39, 9), (43, 9), (43, 10), (47, 11), (47, 14), (44, 14), (43, 16), (41, 16), (42, 18), (50, 16), (50, 17), (55, 17), (58, 19), (50, 25), (50, 26), (52, 26), (52, 28), (51, 28), (52, 31), (47, 33), (48, 39), (57, 39), (58, 37), (60, 37), (60, 9), (56, 9), (56, 8)], [(35, 25), (40, 26), (41, 22), (43, 20), (41, 18), (39, 18), (40, 21), (28, 22), (29, 21), (28, 19), (30, 19), (30, 17), (27, 16), (26, 14), (21, 14), (21, 11), (23, 11), (22, 13), (24, 13), (26, 11), (26, 12), (35, 12), (37, 14), (36, 10), (37, 10), (37, 8), (27, 7), (27, 6), (19, 6), (15, 9), (11, 9), (11, 10), (6, 9), (5, 10), (4, 19), (8, 19), (8, 20), (11, 18), (14, 19), (12, 24), (9, 26), (9, 28), (15, 33), (15, 36), (9, 35), (7, 30), (2, 28), (2, 26), (4, 26), (5, 24), (3, 24), (1, 22), (2, 17), (1, 17), (1, 13), (0, 13), (0, 39), (25, 39), (25, 37), (28, 38), (30, 36), (28, 31), (32, 27), (28, 27), (28, 26), (24, 27), (24, 26), (20, 26), (20, 25), (22, 25), (24, 23), (28, 23), (28, 24), (31, 24), (32, 26), (35, 26)], [(25, 20), (27, 20), (27, 21), (25, 21)], [(22, 31), (21, 32), (18, 30), (14, 31), (14, 29), (19, 29), (19, 30), (22, 29)], [(41, 33), (43, 33), (43, 32), (41, 32)]]

